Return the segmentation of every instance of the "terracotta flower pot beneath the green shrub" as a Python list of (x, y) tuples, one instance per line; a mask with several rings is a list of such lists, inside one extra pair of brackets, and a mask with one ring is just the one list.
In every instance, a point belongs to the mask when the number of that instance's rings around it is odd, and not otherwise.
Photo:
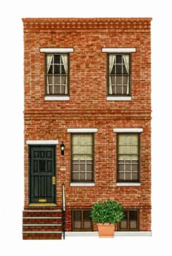
[(101, 224), (97, 223), (99, 237), (114, 237), (114, 224)]

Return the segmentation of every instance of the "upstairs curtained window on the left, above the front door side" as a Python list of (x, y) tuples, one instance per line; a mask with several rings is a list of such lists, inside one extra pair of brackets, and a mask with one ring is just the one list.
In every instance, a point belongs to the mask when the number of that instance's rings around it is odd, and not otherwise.
[(69, 54), (47, 54), (46, 94), (69, 95)]

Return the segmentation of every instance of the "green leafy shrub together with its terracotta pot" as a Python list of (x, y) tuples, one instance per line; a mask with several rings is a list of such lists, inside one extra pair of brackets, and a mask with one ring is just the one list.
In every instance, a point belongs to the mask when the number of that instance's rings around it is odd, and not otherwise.
[(99, 237), (113, 237), (116, 223), (121, 222), (125, 214), (120, 203), (108, 199), (94, 203), (91, 217), (97, 224)]

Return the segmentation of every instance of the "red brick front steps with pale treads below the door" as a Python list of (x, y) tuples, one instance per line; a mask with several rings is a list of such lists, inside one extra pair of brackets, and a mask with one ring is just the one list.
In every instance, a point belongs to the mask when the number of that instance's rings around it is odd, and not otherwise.
[(23, 239), (61, 239), (61, 210), (23, 211)]

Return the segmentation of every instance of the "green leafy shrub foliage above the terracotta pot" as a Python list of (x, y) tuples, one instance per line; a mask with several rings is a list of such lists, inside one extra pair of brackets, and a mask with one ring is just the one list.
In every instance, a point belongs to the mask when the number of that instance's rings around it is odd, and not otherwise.
[(122, 221), (125, 214), (120, 203), (108, 199), (103, 203), (94, 203), (91, 217), (93, 222), (115, 224)]

